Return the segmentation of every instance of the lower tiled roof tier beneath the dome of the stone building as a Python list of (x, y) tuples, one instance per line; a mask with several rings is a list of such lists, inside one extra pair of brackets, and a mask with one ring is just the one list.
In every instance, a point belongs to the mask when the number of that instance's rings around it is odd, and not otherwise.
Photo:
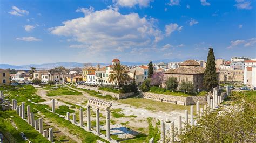
[(177, 69), (169, 69), (166, 74), (204, 74), (203, 67), (179, 67)]

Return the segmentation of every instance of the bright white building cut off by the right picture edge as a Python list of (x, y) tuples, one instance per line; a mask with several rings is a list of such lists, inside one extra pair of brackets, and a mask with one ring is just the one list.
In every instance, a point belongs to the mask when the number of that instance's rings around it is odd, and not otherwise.
[(245, 61), (244, 84), (248, 87), (256, 87), (256, 60)]

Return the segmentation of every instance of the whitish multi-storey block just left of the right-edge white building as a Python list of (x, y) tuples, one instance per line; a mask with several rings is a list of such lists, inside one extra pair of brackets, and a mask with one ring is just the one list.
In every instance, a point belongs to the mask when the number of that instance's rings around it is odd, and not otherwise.
[(244, 70), (246, 60), (250, 59), (246, 57), (232, 57), (230, 66), (233, 70)]

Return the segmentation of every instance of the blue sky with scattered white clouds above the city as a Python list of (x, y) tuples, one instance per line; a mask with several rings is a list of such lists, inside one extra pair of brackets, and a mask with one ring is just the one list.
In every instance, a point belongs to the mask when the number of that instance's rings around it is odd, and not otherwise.
[(0, 63), (256, 58), (254, 0), (0, 1)]

